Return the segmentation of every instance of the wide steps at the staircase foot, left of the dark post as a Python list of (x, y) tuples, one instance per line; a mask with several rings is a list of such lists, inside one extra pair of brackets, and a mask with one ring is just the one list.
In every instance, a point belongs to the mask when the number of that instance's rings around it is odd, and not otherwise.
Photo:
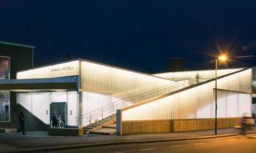
[[(113, 114), (109, 117), (106, 117), (104, 119), (101, 119), (97, 122), (92, 123), (91, 125), (87, 125), (86, 127), (83, 127), (83, 134), (89, 134), (89, 133), (94, 133), (94, 134), (107, 134), (108, 132), (104, 132), (107, 130), (101, 130), (104, 128), (110, 129), (109, 134), (113, 133), (113, 129), (116, 130), (116, 128), (113, 128), (113, 124), (116, 123), (116, 114)], [(109, 126), (111, 125), (111, 126)], [(110, 128), (108, 128), (110, 127)], [(99, 132), (97, 132), (99, 131)], [(103, 131), (103, 132), (100, 132)], [(116, 132), (115, 132), (116, 133)]]

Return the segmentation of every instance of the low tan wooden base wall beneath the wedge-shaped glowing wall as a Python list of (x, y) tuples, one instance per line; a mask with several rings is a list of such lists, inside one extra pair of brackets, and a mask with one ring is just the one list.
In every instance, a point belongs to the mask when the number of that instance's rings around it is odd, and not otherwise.
[[(240, 117), (219, 118), (218, 128), (230, 128), (239, 124)], [(170, 133), (193, 130), (213, 130), (215, 119), (165, 119), (124, 121), (121, 123), (119, 135), (145, 134), (145, 133)]]

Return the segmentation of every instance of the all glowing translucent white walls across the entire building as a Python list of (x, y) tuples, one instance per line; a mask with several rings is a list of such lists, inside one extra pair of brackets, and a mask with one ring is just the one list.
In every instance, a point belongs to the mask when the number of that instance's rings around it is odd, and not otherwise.
[[(230, 74), (241, 68), (218, 70), (218, 76)], [(94, 63), (89, 60), (74, 60), (53, 64), (17, 74), (18, 79), (52, 78), (61, 76), (79, 76), (78, 91), (18, 93), (18, 103), (31, 111), (46, 124), (50, 123), (50, 104), (67, 103), (67, 125), (88, 125), (90, 112), (110, 106), (121, 99), (156, 90), (165, 85), (174, 85), (174, 81), (189, 82), (193, 78), (214, 78), (215, 71), (187, 71), (156, 74), (151, 76), (122, 68)], [(161, 78), (163, 77), (163, 78)], [(177, 79), (178, 78), (178, 79)], [(241, 71), (218, 80), (219, 117), (237, 117), (248, 110), (252, 71)], [(198, 83), (198, 82), (197, 82)], [(183, 83), (182, 83), (183, 84)], [(178, 85), (178, 84), (176, 84)], [(157, 101), (123, 111), (123, 119), (184, 119), (214, 117), (214, 82), (193, 87)], [(180, 86), (178, 86), (180, 88)], [(177, 88), (177, 89), (178, 89)], [(182, 88), (182, 87), (181, 87)], [(239, 93), (240, 92), (240, 93)], [(241, 101), (246, 101), (241, 103)], [(129, 100), (129, 103), (133, 103)], [(112, 105), (111, 105), (112, 106)], [(233, 111), (235, 110), (236, 111)], [(248, 110), (247, 110), (248, 109)], [(112, 110), (112, 109), (111, 109)], [(116, 112), (105, 112), (95, 117), (108, 117)]]

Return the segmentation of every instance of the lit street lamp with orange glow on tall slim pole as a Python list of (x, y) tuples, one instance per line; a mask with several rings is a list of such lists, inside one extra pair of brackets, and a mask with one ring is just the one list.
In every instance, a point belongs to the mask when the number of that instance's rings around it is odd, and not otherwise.
[(217, 69), (218, 69), (218, 60), (225, 61), (227, 60), (226, 55), (221, 55), (215, 60), (215, 135), (217, 135)]

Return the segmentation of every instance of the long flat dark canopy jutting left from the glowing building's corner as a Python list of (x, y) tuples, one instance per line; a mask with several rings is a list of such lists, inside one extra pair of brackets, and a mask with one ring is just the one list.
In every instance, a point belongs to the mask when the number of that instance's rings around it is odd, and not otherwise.
[(0, 90), (78, 90), (78, 76), (0, 80)]

